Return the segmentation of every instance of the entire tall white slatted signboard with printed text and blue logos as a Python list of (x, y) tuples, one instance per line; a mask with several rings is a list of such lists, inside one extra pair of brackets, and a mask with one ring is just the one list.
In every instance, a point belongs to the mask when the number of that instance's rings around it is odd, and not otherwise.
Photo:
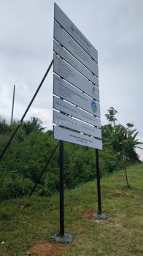
[(54, 138), (101, 149), (98, 52), (57, 4), (54, 19)]

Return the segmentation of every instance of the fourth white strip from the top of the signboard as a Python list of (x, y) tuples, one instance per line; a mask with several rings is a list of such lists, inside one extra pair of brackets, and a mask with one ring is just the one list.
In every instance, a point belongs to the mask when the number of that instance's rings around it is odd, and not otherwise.
[(99, 89), (54, 53), (53, 71), (99, 102)]

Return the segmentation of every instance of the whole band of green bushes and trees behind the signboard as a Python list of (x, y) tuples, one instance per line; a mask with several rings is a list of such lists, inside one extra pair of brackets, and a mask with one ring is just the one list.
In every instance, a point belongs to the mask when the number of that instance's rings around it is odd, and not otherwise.
[[(108, 124), (101, 127), (103, 150), (100, 151), (101, 177), (113, 171), (125, 169), (127, 185), (127, 166), (139, 163), (136, 147), (142, 148), (142, 143), (136, 139), (138, 132), (134, 125), (128, 123), (116, 124), (117, 110), (107, 110)], [(17, 121), (7, 124), (0, 118), (0, 153), (7, 143), (12, 131), (18, 125)], [(37, 183), (36, 195), (50, 196), (59, 190), (59, 152), (58, 148), (40, 179), (57, 140), (53, 132), (42, 127), (39, 118), (31, 117), (23, 121), (18, 134), (12, 141), (6, 154), (0, 162), (0, 199), (29, 195)], [(64, 143), (64, 184), (67, 189), (73, 189), (79, 184), (96, 178), (95, 150), (73, 143)]]

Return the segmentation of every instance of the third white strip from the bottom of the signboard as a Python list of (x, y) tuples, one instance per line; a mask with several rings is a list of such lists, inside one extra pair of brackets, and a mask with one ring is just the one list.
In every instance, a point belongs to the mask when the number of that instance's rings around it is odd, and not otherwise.
[(96, 116), (93, 116), (81, 108), (77, 108), (69, 102), (65, 102), (63, 99), (55, 96), (53, 97), (53, 108), (69, 114), (70, 116), (74, 116), (75, 118), (79, 118), (80, 120), (85, 121), (88, 124), (92, 124), (95, 127), (101, 127), (101, 121), (99, 118), (96, 118)]

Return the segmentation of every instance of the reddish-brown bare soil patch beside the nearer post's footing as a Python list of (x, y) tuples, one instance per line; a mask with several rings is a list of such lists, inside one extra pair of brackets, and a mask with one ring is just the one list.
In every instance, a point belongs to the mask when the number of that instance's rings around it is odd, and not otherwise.
[(31, 256), (59, 256), (66, 249), (66, 244), (55, 244), (53, 241), (38, 241), (31, 246), (29, 254)]

